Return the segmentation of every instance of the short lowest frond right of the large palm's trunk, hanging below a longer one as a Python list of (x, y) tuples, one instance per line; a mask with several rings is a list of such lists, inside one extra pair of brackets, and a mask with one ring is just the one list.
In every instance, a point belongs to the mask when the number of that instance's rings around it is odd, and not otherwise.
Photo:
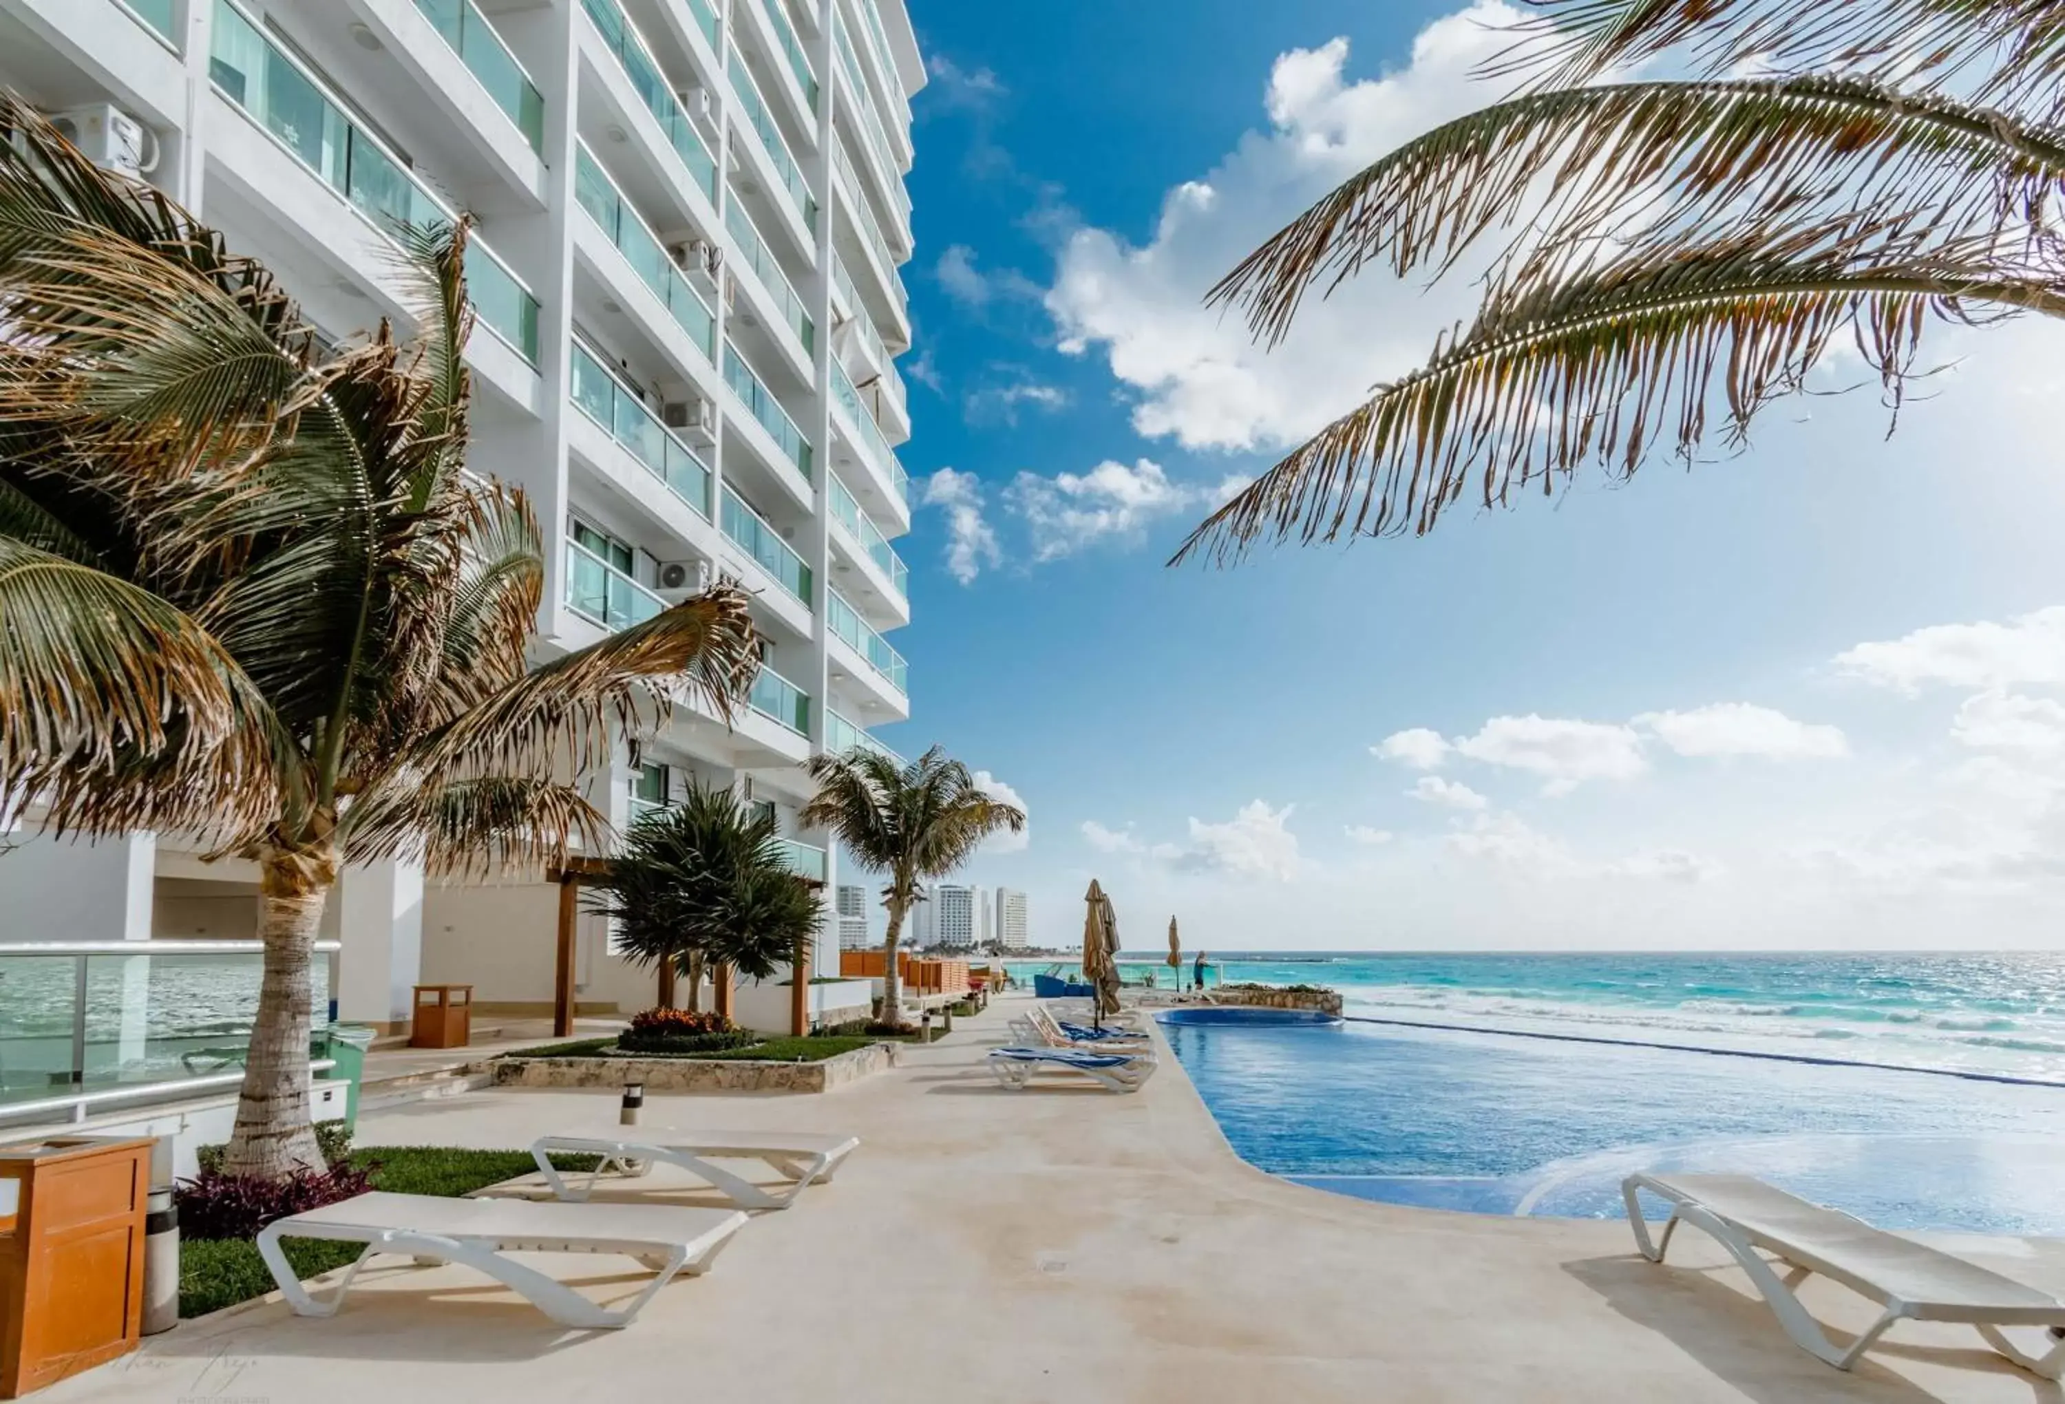
[(574, 785), (529, 776), (427, 785), (394, 770), (345, 807), (337, 844), (351, 863), (405, 859), (440, 875), (535, 875), (566, 867), (574, 849), (605, 853), (609, 820)]

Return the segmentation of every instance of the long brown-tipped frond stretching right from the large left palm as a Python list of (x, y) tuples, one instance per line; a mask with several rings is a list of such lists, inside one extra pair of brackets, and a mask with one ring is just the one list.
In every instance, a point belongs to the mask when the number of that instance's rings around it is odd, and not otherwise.
[(589, 768), (609, 758), (611, 727), (636, 733), (677, 694), (729, 719), (758, 671), (748, 597), (721, 584), (498, 688), (427, 733), (403, 764), (434, 776)]

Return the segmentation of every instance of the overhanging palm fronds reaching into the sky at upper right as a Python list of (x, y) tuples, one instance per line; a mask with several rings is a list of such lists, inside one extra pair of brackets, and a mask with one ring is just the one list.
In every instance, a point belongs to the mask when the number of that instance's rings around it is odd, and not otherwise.
[[(1503, 240), (1476, 320), (1177, 560), (1427, 533), (1464, 498), (1739, 446), (1838, 337), (1898, 409), (1933, 324), (2065, 316), (2057, 4), (1534, 4), (1491, 64), (1524, 78), (1507, 101), (1375, 161), (1212, 293), (1276, 343), (1365, 264), (1439, 277)], [(1627, 78), (1658, 56), (1687, 76)]]

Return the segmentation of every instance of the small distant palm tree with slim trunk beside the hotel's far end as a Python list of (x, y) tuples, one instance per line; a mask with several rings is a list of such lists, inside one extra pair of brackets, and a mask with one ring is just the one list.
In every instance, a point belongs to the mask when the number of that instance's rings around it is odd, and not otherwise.
[(938, 745), (904, 764), (855, 747), (809, 762), (818, 793), (797, 822), (838, 838), (861, 869), (888, 873), (882, 904), (890, 913), (882, 942), (882, 1020), (902, 1022), (902, 977), (896, 942), (911, 908), (925, 900), (921, 884), (938, 882), (975, 857), (991, 834), (1026, 826), (1024, 809), (991, 799), (958, 760)]

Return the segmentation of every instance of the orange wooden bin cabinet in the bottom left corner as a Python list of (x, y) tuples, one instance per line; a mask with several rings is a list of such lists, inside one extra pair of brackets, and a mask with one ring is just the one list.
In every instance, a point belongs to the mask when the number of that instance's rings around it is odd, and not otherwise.
[(0, 1146), (0, 1398), (136, 1348), (151, 1138)]

